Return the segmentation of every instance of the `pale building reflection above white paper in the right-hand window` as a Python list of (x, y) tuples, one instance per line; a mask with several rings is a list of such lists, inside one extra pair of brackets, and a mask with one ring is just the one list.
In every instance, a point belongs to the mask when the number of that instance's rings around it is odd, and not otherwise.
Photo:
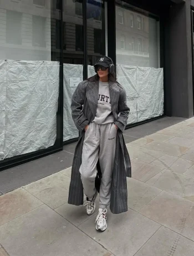
[[(116, 0), (116, 63), (140, 67), (160, 67), (159, 21), (127, 7)], [(119, 23), (119, 11), (127, 17)], [(121, 21), (121, 20), (120, 20)], [(133, 28), (132, 28), (133, 25)], [(122, 49), (122, 50), (121, 50)]]

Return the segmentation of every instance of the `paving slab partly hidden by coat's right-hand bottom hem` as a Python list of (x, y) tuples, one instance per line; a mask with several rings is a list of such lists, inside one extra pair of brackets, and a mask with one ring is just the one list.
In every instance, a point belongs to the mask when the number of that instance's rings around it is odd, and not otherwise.
[(135, 179), (127, 179), (128, 207), (133, 210), (140, 210), (149, 203), (156, 195), (161, 193), (161, 189), (147, 185)]

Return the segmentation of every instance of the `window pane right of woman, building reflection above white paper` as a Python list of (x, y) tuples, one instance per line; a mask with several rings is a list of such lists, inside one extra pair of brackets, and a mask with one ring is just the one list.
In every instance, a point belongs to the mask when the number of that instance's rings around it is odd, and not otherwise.
[(127, 92), (128, 124), (164, 113), (159, 21), (116, 1), (116, 71)]

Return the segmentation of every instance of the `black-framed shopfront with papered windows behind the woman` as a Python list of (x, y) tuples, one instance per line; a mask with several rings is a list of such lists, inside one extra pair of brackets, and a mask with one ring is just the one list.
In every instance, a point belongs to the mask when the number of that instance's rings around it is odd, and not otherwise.
[(0, 169), (63, 150), (70, 101), (108, 55), (127, 128), (193, 116), (193, 0), (1, 0)]

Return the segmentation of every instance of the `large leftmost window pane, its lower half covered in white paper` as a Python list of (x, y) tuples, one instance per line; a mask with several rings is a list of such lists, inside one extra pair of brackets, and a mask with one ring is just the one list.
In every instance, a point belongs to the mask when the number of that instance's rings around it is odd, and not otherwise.
[(52, 6), (1, 1), (0, 160), (59, 147), (60, 11), (53, 17)]

